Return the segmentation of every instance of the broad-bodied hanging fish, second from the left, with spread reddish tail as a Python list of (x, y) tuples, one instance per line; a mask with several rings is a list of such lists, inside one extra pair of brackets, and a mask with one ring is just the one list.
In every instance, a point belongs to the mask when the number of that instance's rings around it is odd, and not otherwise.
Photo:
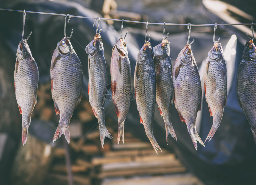
[(64, 134), (69, 143), (69, 122), (82, 98), (83, 70), (70, 37), (61, 39), (51, 58), (51, 95), (56, 114), (60, 115), (52, 142)]

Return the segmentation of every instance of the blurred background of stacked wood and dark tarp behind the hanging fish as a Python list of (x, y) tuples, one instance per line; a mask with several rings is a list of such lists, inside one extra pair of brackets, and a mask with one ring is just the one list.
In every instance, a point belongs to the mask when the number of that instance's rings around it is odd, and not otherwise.
[[(0, 8), (61, 13), (86, 17), (149, 21), (153, 23), (214, 24), (255, 22), (253, 0), (1, 0)], [(32, 113), (28, 139), (21, 141), (21, 115), (18, 111), (13, 73), (18, 43), (21, 40), (23, 12), (0, 10), (0, 181), (4, 185), (80, 185), (80, 184), (255, 184), (256, 146), (250, 125), (238, 105), (236, 76), (243, 47), (252, 36), (250, 26), (225, 25), (216, 29), (216, 40), (224, 49), (227, 61), (228, 97), (221, 125), (205, 148), (198, 151), (172, 106), (172, 123), (177, 142), (171, 137), (166, 144), (163, 118), (156, 106), (153, 132), (163, 149), (157, 155), (140, 124), (132, 95), (124, 132), (125, 143), (117, 147), (117, 116), (111, 96), (105, 102), (106, 127), (114, 140), (105, 139), (102, 149), (97, 119), (88, 102), (87, 44), (93, 40), (94, 19), (71, 17), (66, 33), (74, 33), (71, 43), (80, 58), (84, 72), (82, 101), (70, 122), (71, 140), (63, 136), (54, 144), (52, 138), (59, 115), (51, 98), (50, 63), (57, 43), (63, 38), (64, 16), (26, 13), (24, 38), (28, 40), (39, 69), (38, 101)], [(111, 50), (120, 38), (121, 22), (101, 20), (99, 29), (104, 44), (107, 70), (110, 72)], [(187, 26), (166, 25), (169, 32), (172, 65), (188, 39)], [(213, 47), (214, 26), (192, 26), (190, 40), (201, 81), (208, 51)], [(132, 81), (138, 51), (143, 46), (146, 25), (124, 22), (125, 39), (132, 70)], [(148, 35), (154, 47), (162, 41), (163, 25), (149, 25)], [(110, 73), (108, 76), (110, 84)], [(203, 81), (202, 81), (203, 82)], [(111, 94), (111, 92), (109, 92)], [(204, 91), (198, 113), (197, 131), (205, 140), (212, 125)]]

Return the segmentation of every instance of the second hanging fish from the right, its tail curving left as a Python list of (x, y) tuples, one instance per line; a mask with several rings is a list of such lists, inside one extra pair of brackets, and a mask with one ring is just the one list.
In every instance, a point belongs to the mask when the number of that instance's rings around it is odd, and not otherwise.
[(227, 66), (223, 49), (217, 41), (208, 52), (204, 68), (204, 85), (205, 99), (210, 116), (213, 116), (213, 126), (206, 138), (210, 141), (221, 123), (224, 106), (227, 102)]

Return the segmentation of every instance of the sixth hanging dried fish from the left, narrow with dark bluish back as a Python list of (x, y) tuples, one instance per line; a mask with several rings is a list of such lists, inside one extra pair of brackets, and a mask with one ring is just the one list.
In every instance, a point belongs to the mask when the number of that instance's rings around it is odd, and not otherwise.
[(171, 123), (171, 105), (173, 103), (172, 67), (170, 57), (170, 42), (163, 39), (162, 43), (153, 48), (154, 66), (156, 71), (156, 101), (161, 116), (165, 122), (166, 143), (168, 134), (173, 138), (177, 137)]

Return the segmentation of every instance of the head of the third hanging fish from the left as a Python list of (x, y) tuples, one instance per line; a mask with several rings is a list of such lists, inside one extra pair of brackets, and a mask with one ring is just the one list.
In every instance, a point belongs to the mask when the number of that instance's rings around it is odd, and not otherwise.
[(85, 51), (89, 57), (93, 57), (99, 51), (104, 51), (100, 34), (94, 36), (92, 42), (85, 47)]

